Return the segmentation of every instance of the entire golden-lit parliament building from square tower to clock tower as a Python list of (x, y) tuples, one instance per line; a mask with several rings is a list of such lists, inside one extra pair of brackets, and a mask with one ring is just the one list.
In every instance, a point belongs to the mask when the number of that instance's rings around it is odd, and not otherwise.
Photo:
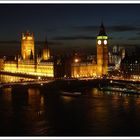
[(96, 59), (83, 60), (77, 55), (51, 56), (47, 40), (41, 56), (35, 53), (34, 34), (21, 35), (21, 54), (14, 60), (5, 60), (1, 71), (45, 77), (101, 77), (108, 74), (108, 36), (103, 23), (96, 38)]

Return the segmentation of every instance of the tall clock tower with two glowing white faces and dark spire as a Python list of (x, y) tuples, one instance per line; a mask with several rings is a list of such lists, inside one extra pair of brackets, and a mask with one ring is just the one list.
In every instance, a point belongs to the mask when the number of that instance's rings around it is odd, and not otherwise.
[(108, 37), (103, 23), (100, 26), (100, 32), (97, 36), (97, 75), (102, 76), (108, 73)]

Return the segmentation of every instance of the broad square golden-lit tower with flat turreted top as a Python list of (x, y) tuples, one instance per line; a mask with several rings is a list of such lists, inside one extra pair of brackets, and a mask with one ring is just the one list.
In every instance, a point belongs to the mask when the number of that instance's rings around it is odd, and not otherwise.
[(30, 60), (31, 55), (34, 59), (34, 35), (33, 33), (22, 33), (21, 37), (21, 55), (23, 60)]

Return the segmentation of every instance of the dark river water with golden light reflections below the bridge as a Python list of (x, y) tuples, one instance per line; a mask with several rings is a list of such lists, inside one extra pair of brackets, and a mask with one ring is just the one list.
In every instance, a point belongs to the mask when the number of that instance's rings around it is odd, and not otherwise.
[[(4, 79), (18, 78), (0, 76)], [(9, 81), (10, 82), (10, 81)], [(84, 90), (59, 95), (41, 87), (0, 91), (1, 136), (140, 136), (140, 96)], [(51, 96), (51, 94), (53, 96)], [(49, 95), (49, 96), (48, 96)]]

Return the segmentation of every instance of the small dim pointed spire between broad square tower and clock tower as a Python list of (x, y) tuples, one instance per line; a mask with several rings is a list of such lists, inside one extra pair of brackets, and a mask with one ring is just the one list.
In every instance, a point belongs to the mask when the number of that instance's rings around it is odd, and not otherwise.
[(48, 60), (50, 58), (50, 49), (48, 48), (47, 39), (46, 39), (45, 44), (44, 44), (42, 57), (43, 57), (43, 60)]

